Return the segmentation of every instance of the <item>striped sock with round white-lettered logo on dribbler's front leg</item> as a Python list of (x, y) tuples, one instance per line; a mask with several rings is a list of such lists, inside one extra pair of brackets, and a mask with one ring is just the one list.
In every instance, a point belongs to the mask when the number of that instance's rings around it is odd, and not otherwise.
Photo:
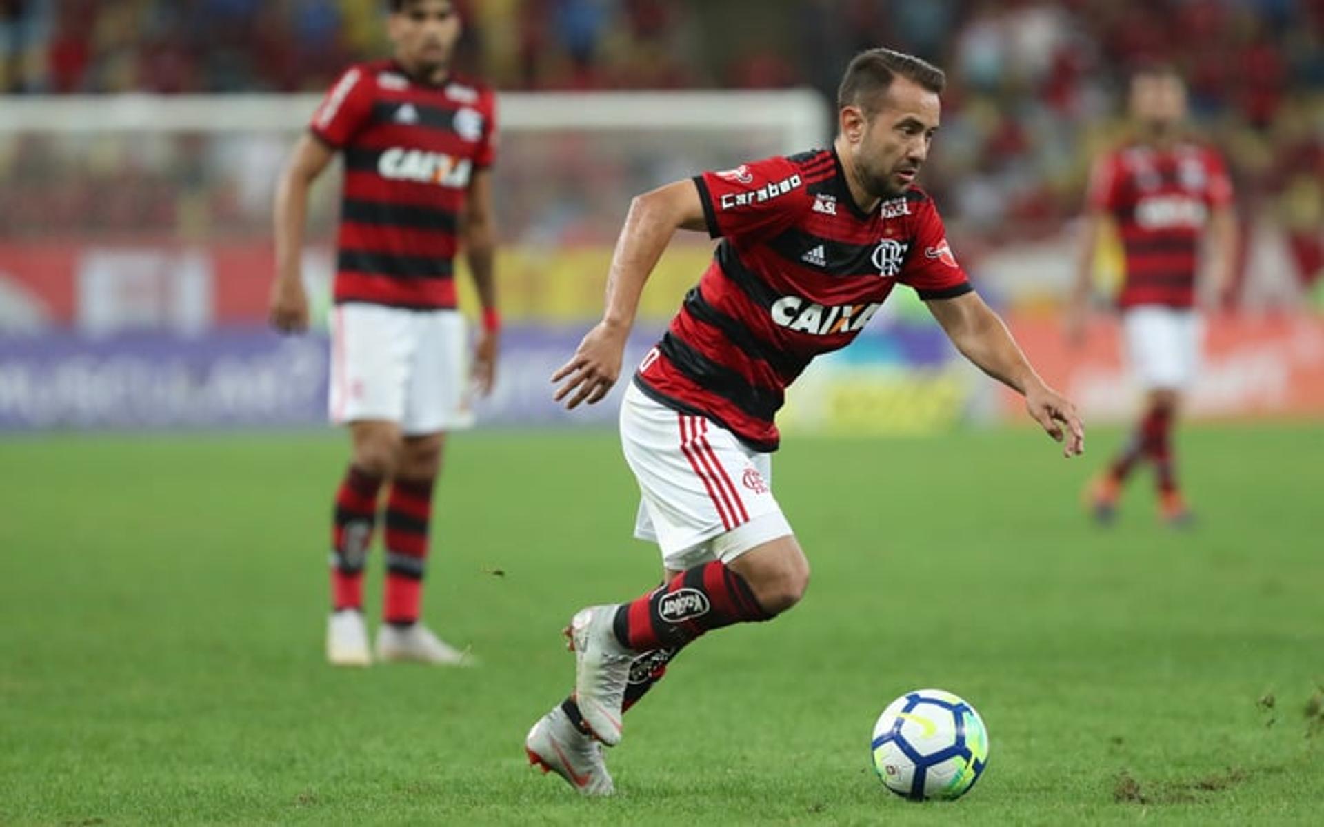
[(616, 611), (616, 639), (637, 652), (681, 648), (712, 629), (767, 621), (749, 584), (722, 561), (681, 572)]

